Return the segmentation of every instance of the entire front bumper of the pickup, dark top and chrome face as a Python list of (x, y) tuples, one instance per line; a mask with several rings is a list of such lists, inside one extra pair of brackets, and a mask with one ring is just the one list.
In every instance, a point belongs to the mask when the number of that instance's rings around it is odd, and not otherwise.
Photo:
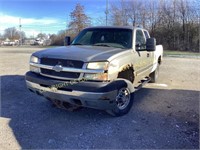
[(84, 81), (73, 84), (71, 81), (54, 80), (27, 72), (26, 85), (30, 91), (47, 99), (68, 102), (83, 107), (109, 110), (116, 106), (115, 98), (119, 87), (124, 86), (124, 82)]

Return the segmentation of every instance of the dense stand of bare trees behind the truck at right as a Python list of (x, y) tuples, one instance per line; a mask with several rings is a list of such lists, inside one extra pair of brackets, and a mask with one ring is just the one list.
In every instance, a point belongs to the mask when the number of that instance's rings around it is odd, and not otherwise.
[(166, 49), (200, 47), (198, 0), (120, 0), (111, 6), (113, 25), (142, 25)]

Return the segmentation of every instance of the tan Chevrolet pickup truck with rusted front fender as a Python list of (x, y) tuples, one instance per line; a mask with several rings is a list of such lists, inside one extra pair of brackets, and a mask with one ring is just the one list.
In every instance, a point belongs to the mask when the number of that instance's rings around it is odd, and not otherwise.
[(68, 110), (89, 107), (127, 114), (134, 93), (156, 82), (163, 47), (139, 27), (90, 27), (66, 46), (30, 58), (27, 88)]

